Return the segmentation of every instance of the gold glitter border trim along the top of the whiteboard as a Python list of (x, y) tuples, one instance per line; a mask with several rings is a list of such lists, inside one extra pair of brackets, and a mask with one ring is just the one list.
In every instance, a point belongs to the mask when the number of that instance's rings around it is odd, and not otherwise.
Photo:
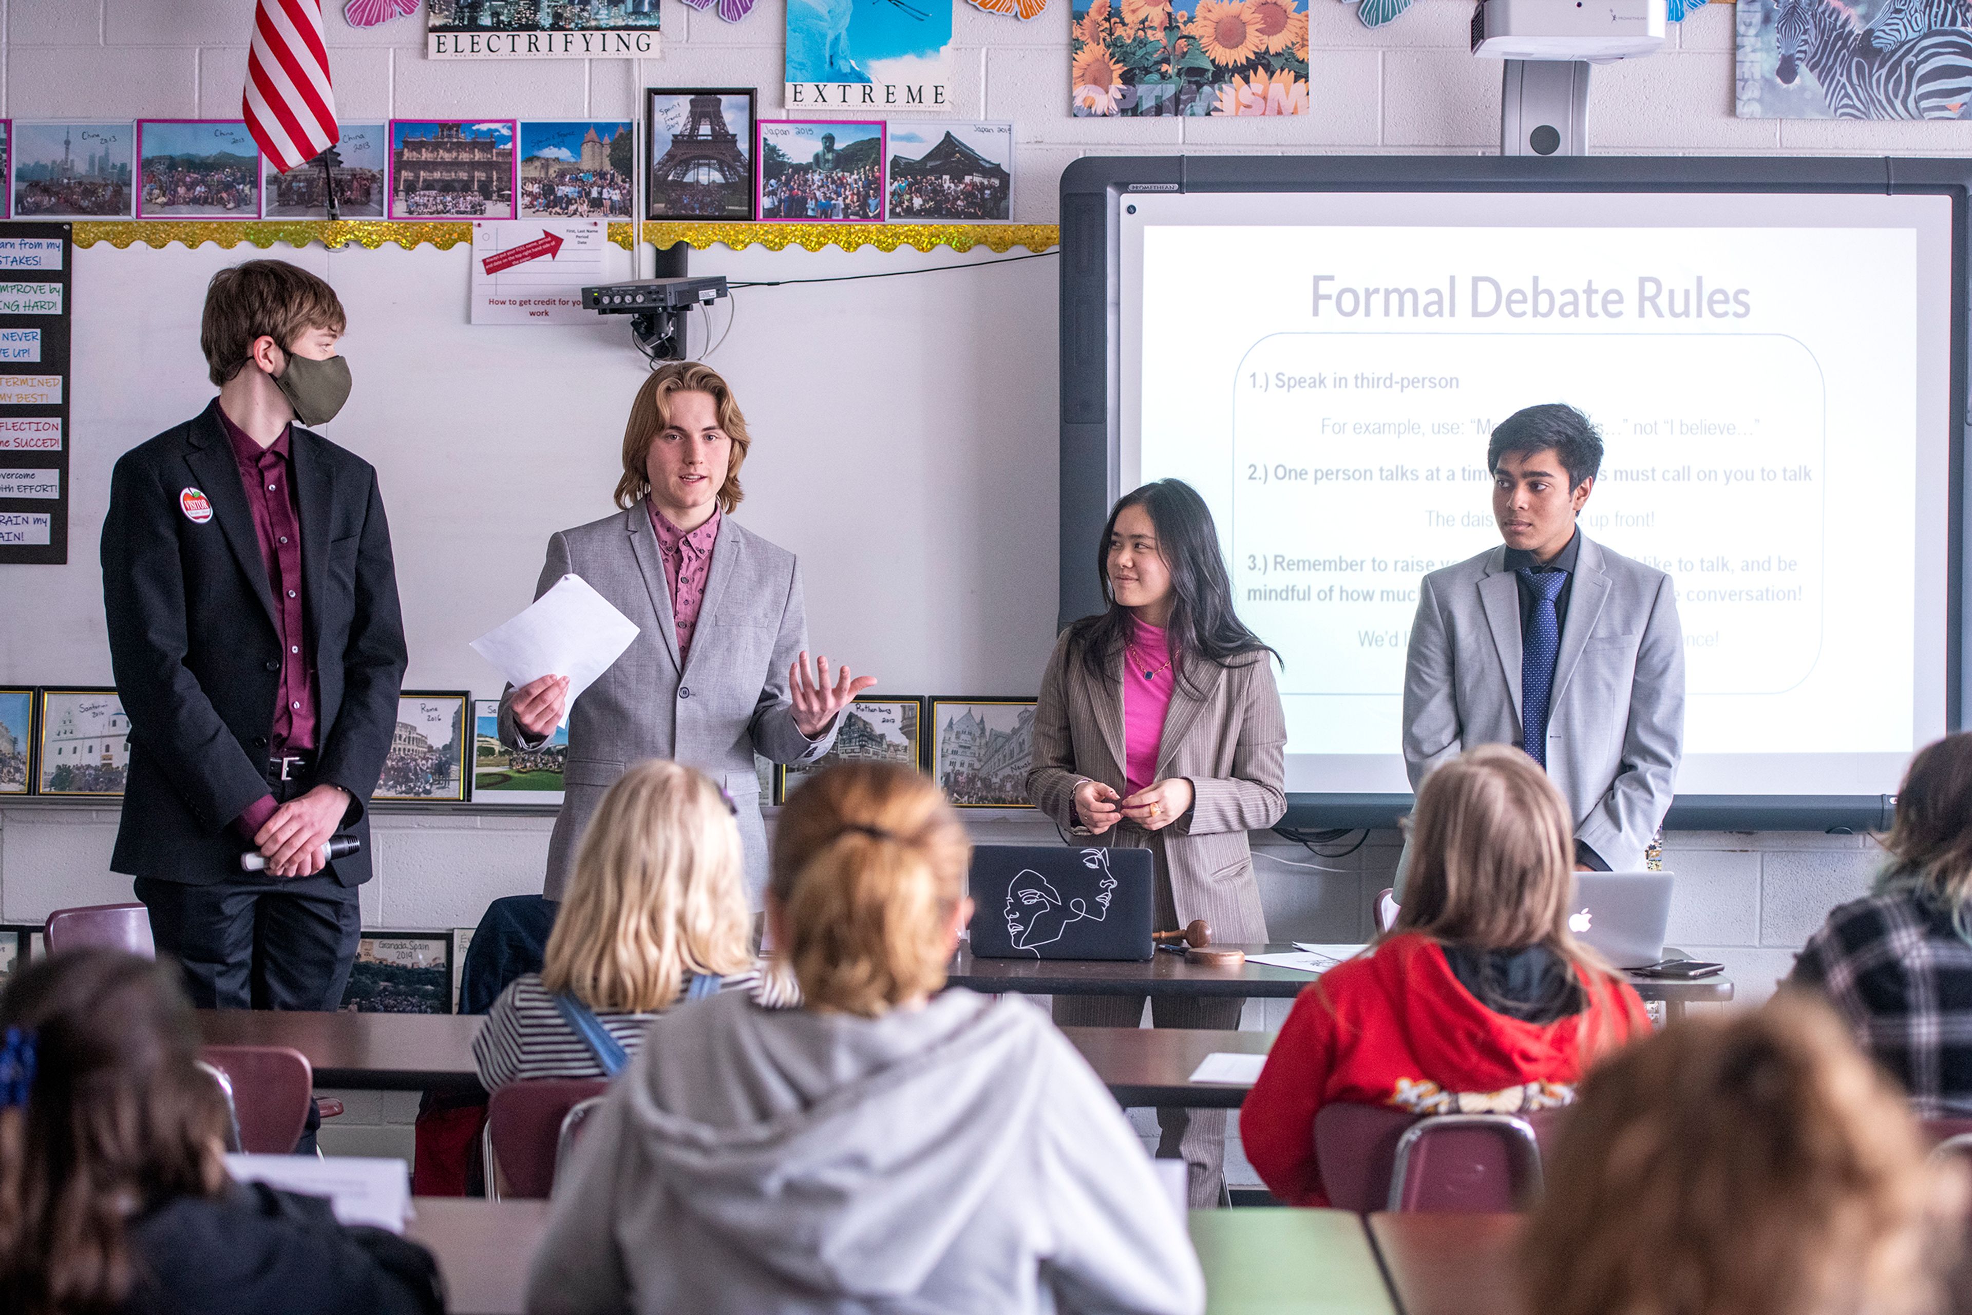
[[(396, 242), (406, 250), (430, 242), (440, 250), (450, 250), (473, 239), (473, 225), (469, 221), (410, 223), (392, 219), (343, 219), (329, 223), (325, 219), (221, 219), (199, 223), (181, 219), (79, 219), (71, 223), (71, 237), (77, 246), (108, 242), (118, 250), (136, 242), (160, 250), (172, 242), (181, 242), (183, 246), (213, 242), (227, 250), (243, 242), (260, 250), (276, 242), (286, 242), (288, 246), (308, 246), (310, 242), (321, 242), (323, 246), (355, 244), (369, 246), (371, 250), (385, 242)], [(635, 225), (631, 223), (613, 221), (609, 225), (609, 241), (625, 250), (635, 241), (633, 235)], [(686, 242), (700, 250), (720, 244), (740, 250), (757, 244), (767, 250), (785, 250), (787, 246), (801, 246), (803, 250), (822, 250), (824, 246), (840, 246), (842, 250), (858, 250), (862, 246), (876, 246), (878, 250), (897, 250), (899, 246), (913, 246), (917, 250), (931, 250), (935, 246), (972, 250), (974, 246), (986, 246), (988, 250), (1006, 252), (1025, 246), (1039, 252), (1057, 246), (1061, 231), (1055, 225), (1041, 223), (645, 223), (643, 241), (653, 246)]]

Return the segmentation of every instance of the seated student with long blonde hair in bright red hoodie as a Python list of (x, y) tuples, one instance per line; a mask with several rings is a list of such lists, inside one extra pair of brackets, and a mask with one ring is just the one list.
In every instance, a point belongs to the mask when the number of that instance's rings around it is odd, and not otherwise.
[(1568, 934), (1574, 828), (1534, 759), (1481, 745), (1418, 795), (1396, 927), (1294, 1002), (1240, 1110), (1246, 1159), (1288, 1205), (1327, 1205), (1315, 1110), (1513, 1114), (1568, 1104), (1597, 1055), (1651, 1029)]

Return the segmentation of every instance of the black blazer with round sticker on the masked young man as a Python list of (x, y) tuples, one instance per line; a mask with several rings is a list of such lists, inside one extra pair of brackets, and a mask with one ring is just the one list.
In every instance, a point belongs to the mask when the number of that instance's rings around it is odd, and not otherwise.
[[(316, 651), (316, 779), (349, 791), (343, 826), (363, 850), (329, 864), (371, 877), (365, 804), (396, 731), (404, 619), (390, 526), (369, 461), (296, 426), (304, 625)], [(197, 489), (213, 517), (179, 505)], [(266, 795), (280, 698), (274, 595), (219, 402), (126, 451), (103, 519), (103, 609), (116, 692), (130, 716), (130, 777), (114, 871), (209, 885), (239, 875), (231, 828)]]

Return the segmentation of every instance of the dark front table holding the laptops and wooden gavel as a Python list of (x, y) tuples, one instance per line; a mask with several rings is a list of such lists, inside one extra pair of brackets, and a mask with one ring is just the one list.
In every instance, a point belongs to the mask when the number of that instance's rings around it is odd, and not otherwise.
[[(1284, 954), (1292, 944), (1242, 944), (1248, 954)], [(1292, 1000), (1313, 982), (1305, 972), (1244, 962), (1238, 968), (1205, 968), (1183, 954), (1160, 950), (1144, 960), (1083, 958), (972, 958), (958, 950), (947, 980), (976, 992), (1023, 992), (1029, 996), (1244, 996)], [(1664, 1019), (1684, 1017), (1688, 1004), (1731, 1000), (1727, 978), (1702, 982), (1653, 982), (1629, 978), (1645, 1000), (1664, 1002)]]

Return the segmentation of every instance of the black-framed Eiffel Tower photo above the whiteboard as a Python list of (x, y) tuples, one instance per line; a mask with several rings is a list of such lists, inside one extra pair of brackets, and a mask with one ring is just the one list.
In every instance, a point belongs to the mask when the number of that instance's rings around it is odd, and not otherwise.
[(645, 219), (753, 219), (753, 89), (645, 93)]

